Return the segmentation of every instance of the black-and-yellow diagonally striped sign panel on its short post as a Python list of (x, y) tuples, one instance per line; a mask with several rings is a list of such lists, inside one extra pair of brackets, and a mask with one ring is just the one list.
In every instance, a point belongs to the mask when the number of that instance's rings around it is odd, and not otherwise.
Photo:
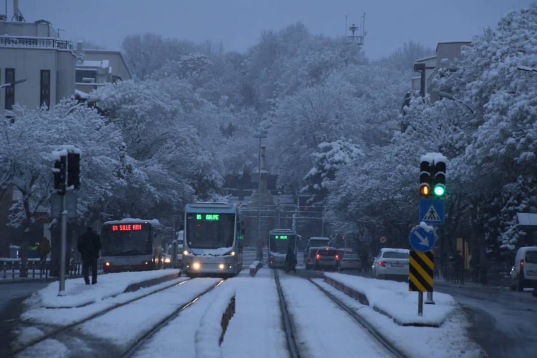
[(423, 293), (434, 288), (434, 253), (432, 251), (410, 251), (408, 290), (417, 291), (418, 315), (423, 315)]

